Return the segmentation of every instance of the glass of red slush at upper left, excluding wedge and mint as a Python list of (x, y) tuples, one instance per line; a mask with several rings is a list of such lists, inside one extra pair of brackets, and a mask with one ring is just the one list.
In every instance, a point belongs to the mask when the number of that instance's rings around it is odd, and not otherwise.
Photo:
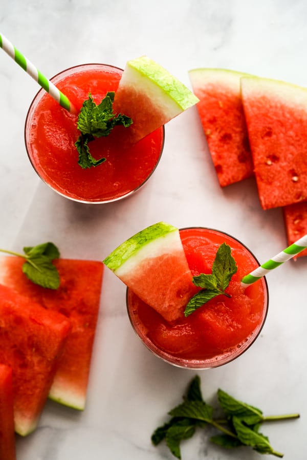
[[(89, 93), (99, 104), (107, 91), (116, 91), (122, 72), (112, 65), (83, 64), (64, 70), (51, 81), (79, 110)], [(106, 161), (82, 169), (74, 145), (80, 134), (77, 116), (41, 89), (27, 114), (25, 143), (34, 170), (53, 190), (83, 203), (107, 203), (139, 190), (162, 155), (164, 126), (134, 146), (129, 145), (128, 129), (115, 126), (107, 137), (91, 142), (91, 155)]]

